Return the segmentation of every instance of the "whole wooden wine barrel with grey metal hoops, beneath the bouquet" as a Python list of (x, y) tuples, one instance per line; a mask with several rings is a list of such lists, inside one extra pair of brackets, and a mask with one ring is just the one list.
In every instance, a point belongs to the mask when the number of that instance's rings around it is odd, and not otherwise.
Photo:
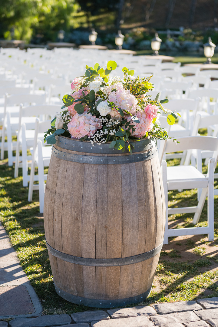
[(162, 248), (165, 202), (154, 141), (133, 155), (56, 136), (44, 199), (56, 292), (91, 307), (145, 300)]

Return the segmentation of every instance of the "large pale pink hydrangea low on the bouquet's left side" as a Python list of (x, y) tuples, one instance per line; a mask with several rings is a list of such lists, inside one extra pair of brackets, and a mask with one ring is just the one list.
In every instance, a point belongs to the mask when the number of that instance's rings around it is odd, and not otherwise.
[(68, 123), (67, 128), (71, 134), (71, 138), (81, 139), (84, 136), (92, 136), (97, 129), (101, 129), (100, 120), (91, 113), (76, 113), (72, 121)]

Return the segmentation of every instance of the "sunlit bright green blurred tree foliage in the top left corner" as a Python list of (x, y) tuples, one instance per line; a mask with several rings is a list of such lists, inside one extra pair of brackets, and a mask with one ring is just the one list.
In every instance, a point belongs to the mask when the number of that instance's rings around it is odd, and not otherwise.
[(75, 0), (1, 0), (0, 38), (29, 42), (32, 34), (42, 34), (42, 41), (55, 41), (59, 29), (69, 29), (77, 9)]

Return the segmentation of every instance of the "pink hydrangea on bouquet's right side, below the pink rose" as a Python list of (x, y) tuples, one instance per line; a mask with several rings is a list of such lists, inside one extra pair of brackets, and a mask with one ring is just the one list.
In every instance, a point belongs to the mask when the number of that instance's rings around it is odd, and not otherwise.
[(131, 117), (127, 117), (127, 121), (131, 121), (131, 125), (134, 125), (135, 130), (133, 131), (130, 129), (131, 135), (142, 138), (145, 136), (146, 132), (153, 128), (152, 119), (150, 119), (147, 113), (144, 111), (138, 111), (136, 116), (138, 117), (140, 123), (133, 122)]

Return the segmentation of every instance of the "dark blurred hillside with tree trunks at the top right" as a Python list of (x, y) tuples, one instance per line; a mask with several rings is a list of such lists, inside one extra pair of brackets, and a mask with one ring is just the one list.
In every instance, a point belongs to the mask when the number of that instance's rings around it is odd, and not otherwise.
[(123, 10), (123, 28), (205, 29), (217, 27), (217, 0), (132, 0)]

